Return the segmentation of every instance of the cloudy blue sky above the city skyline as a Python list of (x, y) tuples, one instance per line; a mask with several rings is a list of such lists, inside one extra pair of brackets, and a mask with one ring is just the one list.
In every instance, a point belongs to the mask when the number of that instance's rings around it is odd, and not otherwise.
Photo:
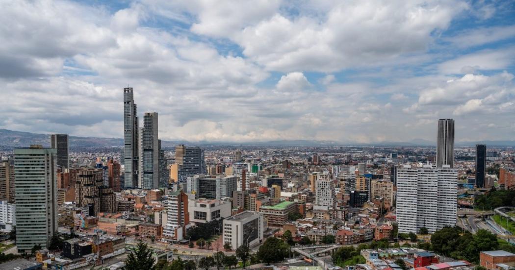
[(0, 129), (123, 137), (130, 86), (163, 140), (515, 139), (515, 1), (0, 2)]

